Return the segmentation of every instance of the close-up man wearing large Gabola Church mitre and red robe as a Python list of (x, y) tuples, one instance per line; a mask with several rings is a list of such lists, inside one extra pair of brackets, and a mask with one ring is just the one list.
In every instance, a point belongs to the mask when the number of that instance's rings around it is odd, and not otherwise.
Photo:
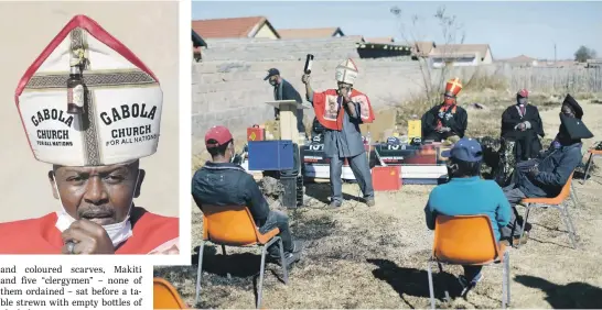
[(32, 153), (52, 165), (57, 209), (1, 223), (0, 254), (178, 254), (178, 218), (133, 206), (162, 102), (159, 80), (129, 48), (92, 19), (73, 18), (15, 90)]

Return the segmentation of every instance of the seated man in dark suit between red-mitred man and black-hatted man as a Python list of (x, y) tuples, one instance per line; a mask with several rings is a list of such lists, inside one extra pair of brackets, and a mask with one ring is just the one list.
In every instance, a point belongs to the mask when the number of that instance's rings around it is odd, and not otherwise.
[(502, 114), (502, 137), (515, 141), (516, 162), (536, 158), (541, 151), (539, 136), (544, 137), (544, 124), (537, 107), (528, 103), (529, 91), (516, 93), (516, 104)]

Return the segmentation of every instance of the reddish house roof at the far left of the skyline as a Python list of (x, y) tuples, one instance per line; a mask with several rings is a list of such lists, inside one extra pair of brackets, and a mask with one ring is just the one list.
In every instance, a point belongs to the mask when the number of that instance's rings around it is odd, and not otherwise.
[(192, 30), (204, 38), (254, 37), (264, 24), (267, 24), (276, 36), (280, 37), (268, 19), (264, 16), (192, 21)]

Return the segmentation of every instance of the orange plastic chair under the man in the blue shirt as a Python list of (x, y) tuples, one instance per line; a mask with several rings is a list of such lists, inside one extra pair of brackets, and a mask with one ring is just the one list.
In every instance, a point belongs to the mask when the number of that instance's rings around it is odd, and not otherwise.
[[(486, 266), (503, 263), (502, 308), (510, 302), (510, 254), (497, 243), (487, 215), (437, 215), (432, 254), (428, 262), (429, 292), (434, 309), (432, 263)], [(449, 292), (445, 291), (449, 299)]]

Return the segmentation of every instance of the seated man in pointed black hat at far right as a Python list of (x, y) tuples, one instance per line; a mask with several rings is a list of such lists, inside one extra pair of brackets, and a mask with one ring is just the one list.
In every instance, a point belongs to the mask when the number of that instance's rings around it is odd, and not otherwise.
[[(581, 163), (582, 139), (593, 137), (581, 118), (583, 110), (567, 95), (560, 112), (560, 129), (548, 151), (538, 158), (519, 163), (514, 171), (513, 182), (504, 188), (504, 193), (514, 209), (510, 223), (502, 230), (502, 239), (513, 244), (524, 243), (518, 240), (523, 219), (516, 212), (516, 203), (524, 198), (548, 197), (560, 193), (570, 175)], [(529, 225), (525, 228), (529, 231)]]

